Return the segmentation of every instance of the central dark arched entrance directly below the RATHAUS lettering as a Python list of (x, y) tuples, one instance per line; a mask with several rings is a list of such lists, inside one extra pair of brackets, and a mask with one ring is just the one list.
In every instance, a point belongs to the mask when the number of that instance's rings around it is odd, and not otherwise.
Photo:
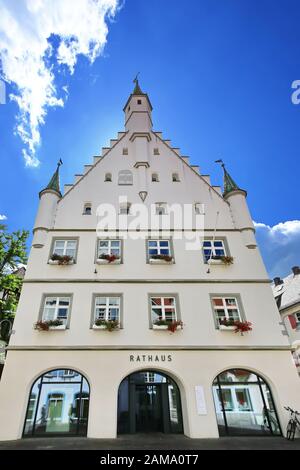
[(135, 372), (120, 384), (118, 434), (137, 432), (183, 432), (179, 388), (162, 372)]

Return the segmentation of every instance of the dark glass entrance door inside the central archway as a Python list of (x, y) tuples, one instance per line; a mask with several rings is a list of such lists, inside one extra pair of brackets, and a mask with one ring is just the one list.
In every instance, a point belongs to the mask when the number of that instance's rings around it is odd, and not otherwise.
[(163, 432), (161, 386), (136, 385), (136, 431)]

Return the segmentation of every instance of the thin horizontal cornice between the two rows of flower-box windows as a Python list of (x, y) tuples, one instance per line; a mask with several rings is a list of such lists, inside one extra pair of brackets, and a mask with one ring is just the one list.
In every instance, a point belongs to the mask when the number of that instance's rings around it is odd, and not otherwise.
[(271, 284), (270, 279), (25, 279), (24, 284)]

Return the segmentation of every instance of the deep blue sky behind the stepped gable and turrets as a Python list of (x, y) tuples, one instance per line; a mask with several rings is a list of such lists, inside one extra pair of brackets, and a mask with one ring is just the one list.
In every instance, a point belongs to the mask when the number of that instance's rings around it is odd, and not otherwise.
[[(41, 13), (47, 13), (49, 22), (56, 1), (51, 7), (44, 0), (44, 11), (32, 13), (32, 0), (22, 0), (22, 11), (20, 0), (0, 0), (0, 7), (11, 15), (0, 18), (0, 44), (11, 29), (10, 18), (17, 20), (22, 34), (29, 34), (30, 18), (31, 30), (41, 34)], [(69, 0), (60, 1), (67, 7)], [(84, 8), (92, 1), (78, 0), (76, 5)], [(88, 17), (88, 9), (82, 11)], [(66, 9), (66, 18), (67, 13)], [(32, 228), (38, 192), (59, 158), (64, 161), (61, 183), (71, 183), (74, 174), (123, 129), (122, 108), (140, 72), (141, 87), (154, 107), (155, 130), (199, 164), (203, 174), (210, 174), (213, 184), (221, 183), (214, 161), (226, 162), (236, 182), (248, 191), (270, 276), (288, 274), (291, 266), (300, 265), (300, 105), (291, 101), (291, 84), (300, 79), (299, 2), (126, 0), (112, 16), (106, 19), (108, 34), (102, 38), (97, 37), (104, 28), (101, 15), (99, 25), (96, 15), (92, 25), (90, 18), (86, 23), (82, 18), (76, 57), (70, 59), (61, 49), (60, 64), (55, 54), (66, 25), (47, 23), (43, 29), (51, 33), (52, 55), (46, 64), (53, 67), (58, 106), (44, 103), (45, 123), (37, 126), (40, 143), (35, 143), (30, 157), (34, 165), (40, 162), (38, 166), (28, 165), (28, 160), (26, 166), (22, 155), (26, 144), (20, 132), (15, 133), (18, 104), (7, 99), (0, 105), (0, 214), (7, 217), (9, 229)], [(78, 34), (76, 18), (73, 28)], [(91, 31), (101, 46), (93, 63), (91, 53), (84, 50)], [(29, 53), (35, 47), (30, 41), (28, 36)], [(2, 76), (7, 78), (4, 59), (7, 71), (11, 57), (3, 55), (2, 41)], [(19, 85), (25, 83), (18, 70), (10, 73)], [(7, 83), (10, 93), (18, 94), (13, 81)]]

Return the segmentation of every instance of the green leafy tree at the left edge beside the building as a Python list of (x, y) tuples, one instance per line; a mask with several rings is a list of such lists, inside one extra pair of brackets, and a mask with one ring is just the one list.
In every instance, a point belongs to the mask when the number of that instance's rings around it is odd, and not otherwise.
[[(17, 309), (23, 279), (14, 273), (27, 262), (28, 235), (26, 230), (8, 233), (6, 226), (0, 225), (0, 321), (13, 319)], [(0, 329), (0, 336), (6, 339), (7, 335), (5, 331), (1, 335)]]

